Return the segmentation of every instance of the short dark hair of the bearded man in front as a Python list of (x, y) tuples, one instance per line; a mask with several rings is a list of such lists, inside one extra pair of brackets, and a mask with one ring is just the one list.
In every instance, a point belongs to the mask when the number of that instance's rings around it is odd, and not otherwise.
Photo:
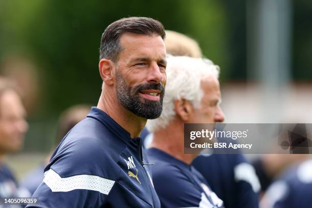
[(122, 49), (119, 38), (127, 32), (149, 36), (157, 34), (163, 40), (166, 37), (164, 25), (158, 20), (149, 17), (122, 18), (111, 23), (103, 32), (99, 59), (110, 59), (116, 62)]

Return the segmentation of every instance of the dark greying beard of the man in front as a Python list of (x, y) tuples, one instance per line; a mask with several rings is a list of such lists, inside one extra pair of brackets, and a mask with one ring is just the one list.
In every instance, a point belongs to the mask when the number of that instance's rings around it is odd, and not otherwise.
[[(162, 84), (145, 84), (134, 87), (128, 86), (123, 76), (116, 70), (116, 95), (121, 105), (128, 111), (146, 119), (158, 118), (163, 111), (165, 88)], [(144, 99), (140, 101), (139, 92), (142, 90), (160, 90), (160, 100)]]

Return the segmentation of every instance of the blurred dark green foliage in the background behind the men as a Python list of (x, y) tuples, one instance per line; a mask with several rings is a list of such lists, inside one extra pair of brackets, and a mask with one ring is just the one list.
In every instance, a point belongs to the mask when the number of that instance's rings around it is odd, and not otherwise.
[[(49, 148), (55, 137), (51, 132), (65, 108), (76, 103), (97, 104), (100, 37), (107, 25), (121, 17), (160, 20), (167, 30), (199, 42), (204, 56), (221, 67), (221, 82), (245, 82), (246, 1), (250, 0), (0, 0), (0, 66), (8, 60), (27, 59), (38, 77), (25, 149)], [(292, 73), (296, 80), (310, 80), (312, 2), (296, 0), (292, 4)]]

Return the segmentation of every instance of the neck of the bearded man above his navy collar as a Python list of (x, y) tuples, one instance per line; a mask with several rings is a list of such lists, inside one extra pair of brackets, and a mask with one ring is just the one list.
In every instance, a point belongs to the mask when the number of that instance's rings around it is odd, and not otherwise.
[(114, 119), (114, 121), (131, 135), (131, 138), (139, 137), (146, 124), (145, 118), (136, 116), (132, 112), (127, 111), (117, 101), (116, 97), (110, 97), (109, 94), (105, 96), (101, 94), (97, 103), (97, 108)]

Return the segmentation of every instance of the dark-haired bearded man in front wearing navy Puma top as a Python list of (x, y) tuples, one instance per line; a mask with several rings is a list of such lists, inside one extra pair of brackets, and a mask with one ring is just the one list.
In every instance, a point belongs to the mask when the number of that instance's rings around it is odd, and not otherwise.
[(139, 138), (160, 116), (166, 84), (162, 23), (117, 20), (104, 31), (97, 107), (63, 138), (28, 207), (160, 207)]

